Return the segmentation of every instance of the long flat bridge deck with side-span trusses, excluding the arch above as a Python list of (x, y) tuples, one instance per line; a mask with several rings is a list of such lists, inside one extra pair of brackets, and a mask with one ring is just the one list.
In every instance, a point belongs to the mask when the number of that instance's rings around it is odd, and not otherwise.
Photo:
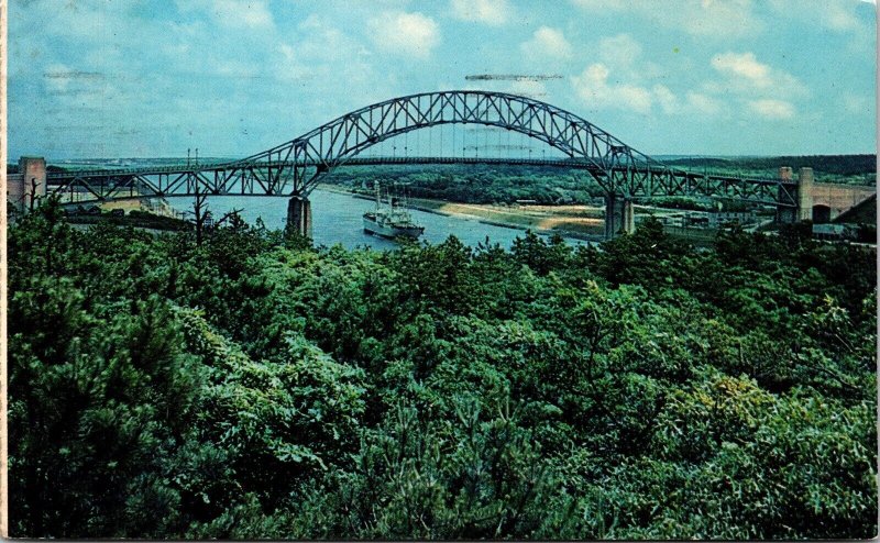
[[(640, 179), (641, 192), (632, 197), (694, 195), (738, 198), (769, 204), (793, 206), (794, 181), (750, 179), (693, 173), (666, 167), (660, 163), (637, 163), (603, 169), (594, 162), (579, 158), (518, 157), (436, 157), (436, 156), (353, 156), (338, 165), (506, 165), (574, 169), (588, 173), (600, 185), (614, 178)], [(47, 189), (67, 195), (67, 201), (87, 202), (129, 198), (210, 195), (292, 196), (288, 181), (295, 167), (320, 169), (321, 163), (296, 164), (292, 160), (255, 160), (246, 164), (208, 163), (53, 171), (47, 174)], [(647, 187), (647, 189), (645, 188)], [(312, 187), (314, 188), (314, 187)], [(310, 190), (310, 189), (308, 189)]]

